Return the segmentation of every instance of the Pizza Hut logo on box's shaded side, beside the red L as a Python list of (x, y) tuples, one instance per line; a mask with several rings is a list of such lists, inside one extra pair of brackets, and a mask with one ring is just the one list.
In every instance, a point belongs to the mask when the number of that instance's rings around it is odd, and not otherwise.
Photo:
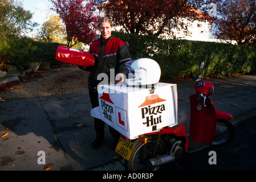
[(103, 110), (104, 117), (109, 121), (113, 122), (111, 115), (113, 114), (113, 106), (109, 105), (113, 104), (113, 102), (111, 101), (109, 94), (103, 92), (103, 95), (100, 97), (100, 99), (101, 109)]

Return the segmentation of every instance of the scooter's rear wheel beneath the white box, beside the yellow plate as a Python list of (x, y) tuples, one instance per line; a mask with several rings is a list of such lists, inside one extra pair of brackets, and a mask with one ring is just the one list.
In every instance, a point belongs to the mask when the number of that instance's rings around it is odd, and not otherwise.
[(149, 136), (148, 143), (142, 143), (140, 139), (137, 139), (130, 159), (125, 160), (125, 169), (128, 171), (157, 171), (159, 166), (152, 167), (148, 160), (163, 155), (164, 152), (164, 141), (161, 138), (159, 142), (156, 142), (156, 137)]

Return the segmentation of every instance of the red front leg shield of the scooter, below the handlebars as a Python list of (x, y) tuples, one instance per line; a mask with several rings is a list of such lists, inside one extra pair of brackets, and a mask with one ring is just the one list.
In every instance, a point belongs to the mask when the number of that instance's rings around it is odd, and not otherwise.
[(214, 105), (204, 106), (204, 101), (196, 102), (198, 94), (190, 96), (189, 135), (194, 142), (212, 144), (216, 134), (217, 117)]

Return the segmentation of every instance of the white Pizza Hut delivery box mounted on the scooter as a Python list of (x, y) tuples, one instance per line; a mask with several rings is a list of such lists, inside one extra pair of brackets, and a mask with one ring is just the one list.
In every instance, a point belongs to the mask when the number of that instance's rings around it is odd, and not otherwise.
[(151, 88), (123, 84), (99, 85), (99, 107), (91, 116), (99, 118), (128, 139), (177, 124), (177, 85), (159, 83)]

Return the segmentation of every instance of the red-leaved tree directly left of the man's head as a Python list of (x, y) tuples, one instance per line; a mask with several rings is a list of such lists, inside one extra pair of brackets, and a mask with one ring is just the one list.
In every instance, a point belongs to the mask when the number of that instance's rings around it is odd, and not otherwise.
[(67, 44), (72, 47), (78, 42), (89, 44), (96, 36), (98, 16), (94, 14), (95, 3), (91, 0), (51, 0), (67, 31)]

